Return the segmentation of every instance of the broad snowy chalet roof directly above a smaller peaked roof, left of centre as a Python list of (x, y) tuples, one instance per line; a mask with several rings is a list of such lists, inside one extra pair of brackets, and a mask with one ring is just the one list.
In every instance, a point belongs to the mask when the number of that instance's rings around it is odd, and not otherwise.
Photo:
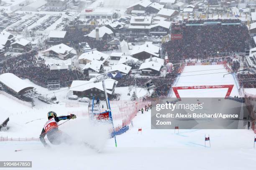
[(90, 60), (90, 61), (93, 61), (93, 60), (100, 60), (101, 58), (103, 58), (103, 62), (105, 60), (107, 60), (109, 57), (109, 55), (103, 53), (103, 52), (100, 52), (100, 51), (97, 51), (97, 50), (92, 50), (92, 51), (88, 51), (88, 52), (84, 52), (82, 53), (78, 60)]

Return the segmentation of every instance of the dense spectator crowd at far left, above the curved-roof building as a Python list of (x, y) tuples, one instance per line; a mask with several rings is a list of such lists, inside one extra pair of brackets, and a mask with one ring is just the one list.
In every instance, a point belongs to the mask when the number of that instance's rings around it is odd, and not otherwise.
[(50, 70), (42, 58), (36, 58), (35, 51), (9, 58), (0, 64), (0, 74), (11, 72), (18, 77), (28, 78), (38, 85), (46, 87), (48, 80), (59, 80), (61, 87), (67, 87), (72, 80), (81, 80), (84, 75), (78, 70)]

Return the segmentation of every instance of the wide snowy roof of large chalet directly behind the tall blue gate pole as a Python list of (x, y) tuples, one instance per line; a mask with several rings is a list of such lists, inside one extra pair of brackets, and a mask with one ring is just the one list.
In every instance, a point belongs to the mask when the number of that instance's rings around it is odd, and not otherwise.
[[(71, 87), (69, 90), (71, 91), (85, 91), (85, 90), (89, 90), (91, 88), (97, 88), (99, 90), (103, 90), (103, 85), (102, 85), (102, 81), (100, 82), (93, 82), (94, 79), (90, 79), (89, 81), (84, 81), (84, 80), (73, 80)], [(113, 88), (115, 87), (115, 85), (118, 83), (118, 81), (113, 80), (112, 78), (109, 78), (107, 80), (105, 80), (105, 87), (106, 87), (106, 92), (110, 95), (113, 94)], [(113, 91), (112, 91), (113, 90)]]

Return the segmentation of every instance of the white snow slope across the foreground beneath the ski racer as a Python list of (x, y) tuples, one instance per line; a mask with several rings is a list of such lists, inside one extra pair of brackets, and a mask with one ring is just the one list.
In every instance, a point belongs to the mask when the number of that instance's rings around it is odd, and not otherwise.
[[(93, 127), (85, 118), (77, 118), (61, 130), (99, 146), (100, 153), (79, 143), (52, 145), (46, 149), (39, 141), (0, 142), (1, 153), (4, 153), (0, 154), (0, 160), (29, 160), (35, 170), (255, 168), (256, 150), (251, 130), (179, 130), (179, 134), (174, 134), (174, 130), (151, 130), (150, 120), (150, 112), (138, 113), (133, 120), (134, 127), (130, 126), (128, 132), (117, 136), (118, 147), (115, 148), (114, 139), (105, 138), (104, 128)], [(34, 122), (33, 128), (20, 133), (28, 134), (41, 127), (41, 123)], [(86, 129), (88, 127), (90, 129)], [(141, 134), (138, 133), (140, 127)], [(210, 134), (211, 147), (204, 146), (205, 134)]]

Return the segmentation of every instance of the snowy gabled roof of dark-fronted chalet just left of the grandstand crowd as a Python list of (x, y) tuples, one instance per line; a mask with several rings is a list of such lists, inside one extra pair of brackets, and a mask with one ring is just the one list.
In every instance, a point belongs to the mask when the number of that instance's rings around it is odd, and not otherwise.
[(144, 51), (158, 57), (159, 50), (161, 50), (161, 47), (153, 45), (152, 42), (146, 41), (143, 45), (134, 46), (131, 55), (135, 55)]

